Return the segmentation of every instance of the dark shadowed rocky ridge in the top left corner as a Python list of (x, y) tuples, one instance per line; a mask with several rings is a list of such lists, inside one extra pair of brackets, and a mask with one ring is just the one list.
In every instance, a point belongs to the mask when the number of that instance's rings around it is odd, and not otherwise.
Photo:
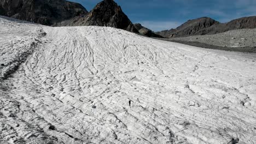
[(0, 15), (48, 26), (87, 13), (82, 5), (65, 0), (0, 1)]

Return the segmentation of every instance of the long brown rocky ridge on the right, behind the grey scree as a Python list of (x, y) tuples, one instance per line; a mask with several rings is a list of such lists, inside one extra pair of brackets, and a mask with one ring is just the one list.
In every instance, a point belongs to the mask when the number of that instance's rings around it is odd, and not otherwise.
[(189, 20), (176, 29), (157, 32), (156, 34), (166, 38), (188, 37), (191, 35), (205, 35), (223, 33), (242, 28), (256, 28), (256, 16), (242, 17), (227, 23), (219, 23), (208, 17)]

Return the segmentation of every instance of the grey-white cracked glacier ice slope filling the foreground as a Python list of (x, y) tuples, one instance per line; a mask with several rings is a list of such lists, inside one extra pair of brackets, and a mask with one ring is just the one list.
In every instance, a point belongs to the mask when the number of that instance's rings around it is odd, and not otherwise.
[(256, 143), (254, 54), (109, 27), (0, 27), (0, 143)]

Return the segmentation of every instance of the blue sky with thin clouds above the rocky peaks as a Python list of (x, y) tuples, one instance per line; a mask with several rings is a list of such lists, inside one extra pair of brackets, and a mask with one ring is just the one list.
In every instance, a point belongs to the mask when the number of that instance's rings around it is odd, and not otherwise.
[[(101, 0), (69, 0), (82, 4), (88, 11)], [(176, 28), (198, 17), (228, 22), (256, 15), (256, 0), (115, 0), (133, 23), (153, 31)]]

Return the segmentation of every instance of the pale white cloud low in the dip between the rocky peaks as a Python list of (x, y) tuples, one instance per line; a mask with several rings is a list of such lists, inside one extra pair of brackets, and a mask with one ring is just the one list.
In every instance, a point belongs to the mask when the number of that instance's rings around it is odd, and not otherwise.
[(147, 27), (154, 32), (176, 28), (182, 24), (181, 22), (176, 21), (141, 21), (137, 23), (141, 23), (142, 26)]

